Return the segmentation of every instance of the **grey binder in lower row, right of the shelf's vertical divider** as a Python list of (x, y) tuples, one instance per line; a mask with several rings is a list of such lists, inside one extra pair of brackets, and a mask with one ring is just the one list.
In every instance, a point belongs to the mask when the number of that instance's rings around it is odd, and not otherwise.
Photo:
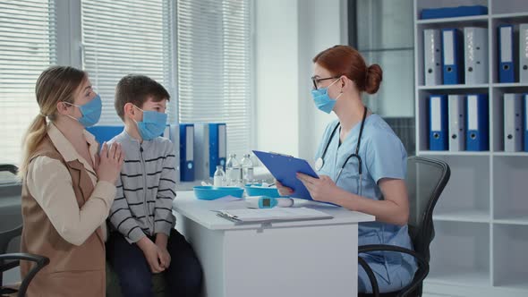
[(504, 94), (504, 151), (523, 150), (523, 96)]

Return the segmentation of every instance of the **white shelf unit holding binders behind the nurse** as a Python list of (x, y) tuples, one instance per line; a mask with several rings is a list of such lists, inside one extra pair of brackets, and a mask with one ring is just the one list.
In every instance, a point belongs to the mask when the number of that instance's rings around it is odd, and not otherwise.
[[(485, 5), (488, 14), (420, 20), (424, 8), (461, 5)], [(499, 83), (497, 74), (497, 26), (513, 23), (518, 32), (528, 23), (528, 1), (414, 0), (413, 17), (416, 152), (451, 168), (433, 215), (424, 295), (528, 296), (528, 152), (505, 152), (503, 141), (503, 94), (528, 93), (528, 83)], [(488, 82), (424, 86), (423, 30), (468, 26), (488, 29)], [(490, 151), (428, 150), (429, 95), (470, 93), (489, 94)]]

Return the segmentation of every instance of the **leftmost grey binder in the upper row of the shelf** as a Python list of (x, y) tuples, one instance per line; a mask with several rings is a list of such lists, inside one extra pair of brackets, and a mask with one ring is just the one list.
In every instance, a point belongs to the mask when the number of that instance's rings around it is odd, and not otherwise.
[(423, 77), (426, 86), (442, 84), (440, 30), (423, 30)]

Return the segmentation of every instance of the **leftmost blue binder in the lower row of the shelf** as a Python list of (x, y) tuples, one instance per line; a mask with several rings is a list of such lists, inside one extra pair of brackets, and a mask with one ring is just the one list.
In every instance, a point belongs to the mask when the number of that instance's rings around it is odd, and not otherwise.
[(429, 149), (448, 149), (447, 96), (431, 95), (429, 98)]

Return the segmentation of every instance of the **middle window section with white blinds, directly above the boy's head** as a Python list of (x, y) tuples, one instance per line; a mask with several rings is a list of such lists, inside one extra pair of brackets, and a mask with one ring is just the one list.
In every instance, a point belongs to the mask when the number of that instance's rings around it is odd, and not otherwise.
[(167, 89), (169, 121), (176, 120), (173, 5), (171, 0), (81, 0), (82, 68), (103, 100), (98, 124), (123, 124), (115, 113), (115, 86), (131, 73)]

